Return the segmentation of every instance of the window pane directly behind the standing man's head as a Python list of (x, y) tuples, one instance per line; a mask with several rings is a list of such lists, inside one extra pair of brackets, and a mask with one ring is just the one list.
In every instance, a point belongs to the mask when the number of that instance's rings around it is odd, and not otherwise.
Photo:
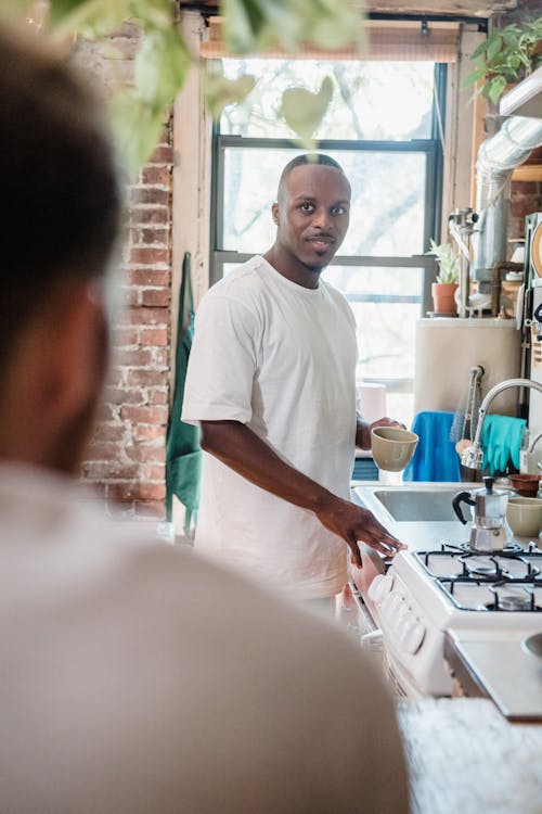
[[(223, 244), (264, 252), (274, 240), (271, 205), (284, 165), (299, 150), (224, 151)], [(404, 257), (424, 251), (424, 153), (328, 151), (352, 186), (346, 255)]]

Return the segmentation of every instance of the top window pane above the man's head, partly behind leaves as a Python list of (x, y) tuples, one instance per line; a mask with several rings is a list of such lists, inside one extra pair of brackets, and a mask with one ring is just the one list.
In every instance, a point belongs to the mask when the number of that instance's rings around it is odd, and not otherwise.
[(223, 60), (224, 74), (261, 78), (243, 105), (224, 109), (222, 133), (292, 138), (276, 112), (284, 90), (320, 89), (325, 76), (334, 94), (317, 139), (402, 140), (431, 137), (435, 65), (431, 62), (326, 62), (315, 60)]

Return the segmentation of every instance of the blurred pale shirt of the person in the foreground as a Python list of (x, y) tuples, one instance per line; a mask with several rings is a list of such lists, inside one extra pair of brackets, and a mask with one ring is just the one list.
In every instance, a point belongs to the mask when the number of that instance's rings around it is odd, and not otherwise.
[(359, 647), (77, 494), (0, 466), (2, 812), (408, 811)]

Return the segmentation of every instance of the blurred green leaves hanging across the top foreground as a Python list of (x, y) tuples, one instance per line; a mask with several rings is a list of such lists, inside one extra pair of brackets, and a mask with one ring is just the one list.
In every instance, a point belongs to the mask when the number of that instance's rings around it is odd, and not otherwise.
[[(3, 4), (2, 4), (3, 5)], [(47, 28), (53, 40), (78, 37), (107, 41), (124, 23), (137, 26), (141, 42), (136, 55), (133, 85), (119, 87), (112, 100), (113, 124), (120, 156), (130, 178), (149, 158), (192, 65), (173, 0), (10, 0), (11, 18), (26, 18)], [(323, 49), (362, 42), (363, 17), (348, 0), (222, 0), (224, 42), (232, 55), (264, 53), (273, 48), (295, 53), (301, 43)], [(1, 15), (0, 15), (1, 16)], [(5, 14), (3, 14), (5, 16)], [(232, 81), (209, 73), (206, 94), (218, 117), (228, 104), (250, 93), (255, 79)], [(281, 106), (296, 136), (305, 143), (317, 129), (331, 101), (333, 85), (324, 81), (318, 93), (288, 88)]]

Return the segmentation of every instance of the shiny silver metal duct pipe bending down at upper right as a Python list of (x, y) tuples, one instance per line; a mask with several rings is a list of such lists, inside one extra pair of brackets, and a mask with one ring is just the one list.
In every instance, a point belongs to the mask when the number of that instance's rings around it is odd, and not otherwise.
[[(528, 85), (529, 107), (525, 106), (526, 93), (521, 92), (524, 82), (520, 82), (503, 97), (501, 110), (506, 113), (528, 111), (529, 116), (506, 118), (499, 132), (483, 141), (478, 151), (476, 211), (480, 219), (473, 234), (470, 279), (478, 282), (480, 291), (490, 290), (493, 266), (506, 259), (512, 173), (534, 148), (542, 145), (542, 68), (531, 74), (525, 84)], [(517, 105), (514, 99), (518, 100)]]

